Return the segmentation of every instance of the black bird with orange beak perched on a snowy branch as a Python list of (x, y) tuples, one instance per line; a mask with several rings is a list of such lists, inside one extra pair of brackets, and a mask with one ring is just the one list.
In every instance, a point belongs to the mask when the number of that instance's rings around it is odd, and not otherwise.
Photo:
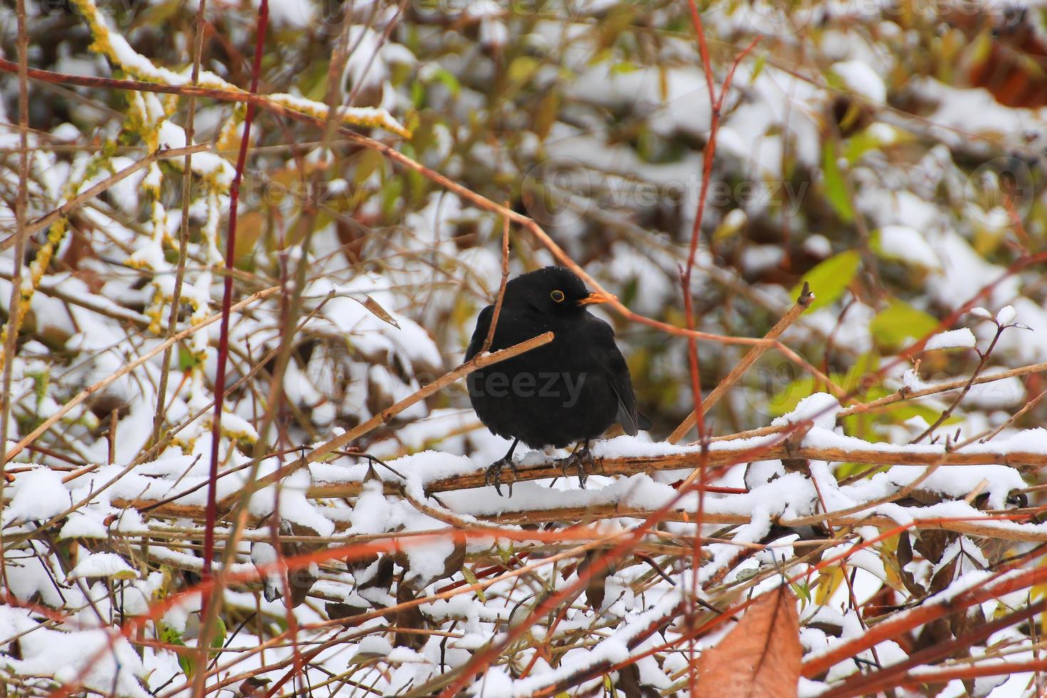
[[(615, 343), (615, 331), (587, 307), (606, 302), (563, 267), (545, 267), (511, 279), (498, 314), (490, 351), (518, 344), (552, 331), (549, 344), (469, 374), (469, 399), (476, 415), (493, 433), (512, 438), (505, 457), (488, 468), (488, 482), (502, 494), (502, 468), (515, 477), (513, 450), (524, 442), (531, 448), (562, 448), (580, 442), (581, 448), (563, 459), (578, 469), (585, 487), (584, 464), (592, 465), (588, 442), (616, 422), (636, 435), (650, 423), (637, 412), (629, 368)], [(466, 361), (487, 339), (494, 306), (480, 313)], [(512, 489), (510, 485), (510, 495)]]

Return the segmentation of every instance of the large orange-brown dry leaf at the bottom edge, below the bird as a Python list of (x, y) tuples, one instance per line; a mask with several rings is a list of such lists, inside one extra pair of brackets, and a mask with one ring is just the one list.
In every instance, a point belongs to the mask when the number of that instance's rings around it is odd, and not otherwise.
[(734, 630), (698, 657), (695, 698), (796, 698), (800, 617), (783, 584), (757, 599)]

